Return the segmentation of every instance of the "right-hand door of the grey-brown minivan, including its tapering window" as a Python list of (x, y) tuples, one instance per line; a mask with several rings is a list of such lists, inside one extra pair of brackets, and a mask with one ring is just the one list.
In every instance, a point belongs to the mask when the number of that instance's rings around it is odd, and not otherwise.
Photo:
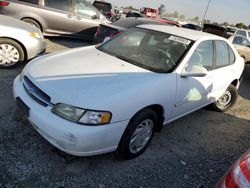
[(99, 24), (105, 18), (91, 4), (83, 0), (75, 0), (75, 35), (92, 40)]

